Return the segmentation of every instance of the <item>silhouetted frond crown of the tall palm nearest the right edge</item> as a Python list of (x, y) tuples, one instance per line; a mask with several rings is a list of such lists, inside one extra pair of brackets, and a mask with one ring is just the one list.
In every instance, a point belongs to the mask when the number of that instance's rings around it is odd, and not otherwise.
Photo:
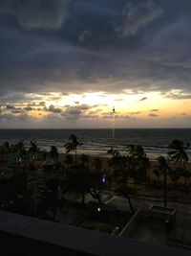
[(186, 146), (183, 145), (183, 142), (180, 140), (173, 140), (172, 143), (168, 146), (171, 151), (168, 151), (170, 160), (179, 164), (183, 164), (185, 169), (185, 164), (189, 160), (186, 150), (190, 147), (190, 144), (187, 143)]

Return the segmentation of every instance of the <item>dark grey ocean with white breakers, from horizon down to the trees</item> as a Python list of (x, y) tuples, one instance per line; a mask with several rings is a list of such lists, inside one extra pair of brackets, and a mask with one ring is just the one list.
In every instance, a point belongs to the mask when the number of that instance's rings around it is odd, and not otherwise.
[[(16, 143), (24, 141), (29, 147), (30, 140), (35, 140), (42, 150), (49, 151), (56, 146), (59, 152), (65, 152), (64, 145), (69, 136), (74, 134), (83, 145), (79, 153), (108, 156), (107, 151), (113, 143), (122, 154), (130, 144), (141, 145), (151, 159), (166, 155), (168, 145), (174, 139), (191, 144), (191, 128), (117, 128), (113, 142), (113, 131), (109, 128), (96, 129), (0, 129), (0, 144), (4, 141)], [(187, 151), (191, 160), (191, 150)]]

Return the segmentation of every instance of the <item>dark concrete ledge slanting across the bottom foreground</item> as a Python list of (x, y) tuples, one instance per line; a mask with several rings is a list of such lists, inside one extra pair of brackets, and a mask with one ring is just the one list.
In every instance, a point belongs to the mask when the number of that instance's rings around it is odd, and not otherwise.
[[(6, 238), (11, 237), (8, 242), (7, 252), (14, 251), (13, 254), (2, 255), (32, 255), (22, 251), (25, 243), (40, 248), (43, 246), (54, 246), (61, 248), (62, 253), (54, 255), (172, 255), (172, 256), (191, 256), (189, 251), (179, 250), (167, 246), (147, 244), (136, 240), (108, 235), (92, 230), (55, 223), (52, 221), (43, 221), (31, 217), (17, 214), (0, 212), (0, 244), (4, 245)], [(3, 239), (4, 238), (4, 239)], [(12, 241), (23, 240), (23, 246), (16, 247), (11, 244)], [(21, 243), (20, 243), (21, 244)], [(37, 245), (38, 244), (38, 245)], [(15, 246), (15, 247), (14, 247)], [(66, 250), (66, 251), (65, 251)], [(70, 253), (68, 253), (70, 251)], [(35, 255), (35, 254), (33, 254)], [(43, 253), (41, 255), (44, 255)], [(50, 255), (50, 254), (49, 254)]]

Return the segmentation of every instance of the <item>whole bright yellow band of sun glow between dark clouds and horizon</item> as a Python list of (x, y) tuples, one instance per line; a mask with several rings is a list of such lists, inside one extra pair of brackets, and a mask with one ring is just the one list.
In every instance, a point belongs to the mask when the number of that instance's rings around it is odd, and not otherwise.
[[(82, 92), (81, 94), (68, 94), (50, 92), (45, 94), (26, 95), (25, 101), (8, 103), (1, 107), (1, 113), (12, 115), (15, 118), (29, 117), (33, 121), (60, 122), (87, 124), (95, 126), (100, 124), (108, 126), (113, 117), (113, 107), (116, 109), (117, 125), (124, 126), (150, 126), (158, 122), (166, 122), (174, 118), (189, 119), (191, 117), (190, 99), (171, 99), (159, 91), (124, 92), (120, 94), (97, 92)], [(6, 117), (5, 117), (6, 118)], [(88, 122), (92, 120), (94, 122)], [(130, 125), (132, 122), (132, 125)], [(107, 125), (108, 124), (108, 125)]]

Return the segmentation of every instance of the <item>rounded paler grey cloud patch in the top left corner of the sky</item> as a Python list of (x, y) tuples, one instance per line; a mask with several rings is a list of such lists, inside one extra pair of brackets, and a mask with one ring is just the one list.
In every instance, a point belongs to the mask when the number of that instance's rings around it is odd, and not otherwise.
[(11, 14), (18, 24), (27, 29), (59, 29), (67, 16), (69, 0), (6, 0), (1, 12)]

